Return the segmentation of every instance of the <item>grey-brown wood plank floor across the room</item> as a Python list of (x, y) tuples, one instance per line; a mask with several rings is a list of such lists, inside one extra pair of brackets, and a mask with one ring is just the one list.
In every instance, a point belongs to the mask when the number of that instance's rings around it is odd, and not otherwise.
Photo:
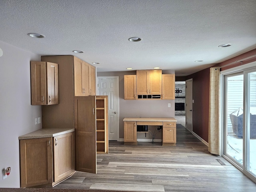
[[(220, 164), (223, 162), (225, 165)], [(256, 184), (184, 127), (177, 145), (110, 142), (109, 154), (97, 155), (97, 174), (76, 172), (54, 188), (148, 192), (255, 192)]]

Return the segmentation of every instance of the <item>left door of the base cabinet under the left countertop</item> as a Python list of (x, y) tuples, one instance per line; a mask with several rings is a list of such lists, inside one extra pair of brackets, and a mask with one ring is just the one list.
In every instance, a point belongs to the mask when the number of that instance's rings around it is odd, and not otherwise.
[(52, 138), (20, 140), (20, 186), (52, 183)]

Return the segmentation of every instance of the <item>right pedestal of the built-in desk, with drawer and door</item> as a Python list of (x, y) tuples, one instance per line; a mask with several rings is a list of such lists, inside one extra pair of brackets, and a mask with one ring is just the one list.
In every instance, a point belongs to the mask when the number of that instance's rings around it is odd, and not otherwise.
[(162, 145), (176, 145), (176, 122), (163, 122)]

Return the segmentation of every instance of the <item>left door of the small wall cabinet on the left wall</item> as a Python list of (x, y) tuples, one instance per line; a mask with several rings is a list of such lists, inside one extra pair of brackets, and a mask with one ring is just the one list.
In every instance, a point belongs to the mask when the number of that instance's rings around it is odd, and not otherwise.
[(45, 62), (30, 62), (31, 104), (46, 105), (46, 65)]

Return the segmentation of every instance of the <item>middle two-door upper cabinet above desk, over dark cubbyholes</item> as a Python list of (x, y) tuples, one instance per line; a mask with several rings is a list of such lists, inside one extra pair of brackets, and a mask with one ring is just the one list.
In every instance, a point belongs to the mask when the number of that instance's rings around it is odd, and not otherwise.
[(137, 95), (162, 94), (162, 70), (137, 70)]

